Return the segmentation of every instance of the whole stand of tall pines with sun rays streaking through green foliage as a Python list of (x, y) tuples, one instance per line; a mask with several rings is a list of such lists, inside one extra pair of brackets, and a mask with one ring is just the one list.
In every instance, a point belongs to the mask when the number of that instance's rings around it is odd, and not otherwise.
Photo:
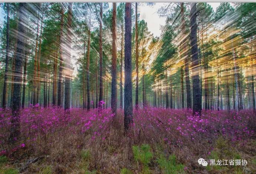
[[(13, 134), (24, 107), (255, 111), (255, 3), (161, 7), (160, 37), (140, 20), (154, 3), (3, 3), (2, 108)], [(13, 137), (14, 135), (10, 135)]]

